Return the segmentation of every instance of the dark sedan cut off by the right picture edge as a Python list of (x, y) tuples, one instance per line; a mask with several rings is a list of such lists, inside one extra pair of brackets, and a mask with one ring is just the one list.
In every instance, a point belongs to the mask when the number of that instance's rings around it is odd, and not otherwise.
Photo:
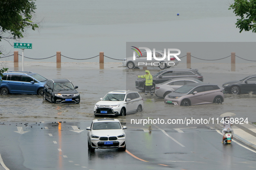
[(242, 80), (225, 82), (222, 87), (224, 91), (231, 94), (256, 93), (256, 75), (248, 76)]

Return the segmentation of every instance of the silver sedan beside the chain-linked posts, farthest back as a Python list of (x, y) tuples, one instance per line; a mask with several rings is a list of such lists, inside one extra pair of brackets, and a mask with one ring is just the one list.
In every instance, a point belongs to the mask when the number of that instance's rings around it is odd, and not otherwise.
[[(155, 57), (162, 58), (164, 56), (164, 52), (160, 50), (155, 51)], [(172, 57), (170, 58), (170, 61), (167, 60), (167, 57), (165, 57), (164, 60), (156, 60), (153, 57), (152, 52), (152, 60), (147, 60), (147, 53), (144, 52), (136, 56), (136, 60), (133, 60), (133, 57), (127, 57), (123, 59), (123, 66), (128, 67), (129, 69), (133, 69), (134, 67), (159, 67), (160, 69), (170, 68), (171, 66), (177, 66), (179, 61)]]

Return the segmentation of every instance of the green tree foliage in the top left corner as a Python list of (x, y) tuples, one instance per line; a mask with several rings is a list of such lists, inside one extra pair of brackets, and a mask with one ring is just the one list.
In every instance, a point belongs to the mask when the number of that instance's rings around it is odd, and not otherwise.
[[(32, 22), (35, 13), (36, 0), (0, 0), (0, 41), (5, 40), (10, 44), (10, 40), (23, 38), (26, 28), (38, 28), (38, 23)], [(12, 45), (12, 44), (10, 44)], [(0, 56), (2, 55), (0, 48)], [(0, 75), (6, 71), (0, 69)]]

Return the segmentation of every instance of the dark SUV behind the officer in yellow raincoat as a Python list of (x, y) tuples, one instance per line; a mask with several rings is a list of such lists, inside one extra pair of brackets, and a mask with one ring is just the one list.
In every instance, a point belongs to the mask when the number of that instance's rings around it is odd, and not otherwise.
[[(175, 78), (194, 78), (202, 82), (204, 80), (204, 77), (201, 75), (201, 73), (198, 72), (198, 69), (165, 69), (156, 73), (152, 77), (153, 77), (152, 91), (155, 91), (156, 84), (166, 82), (168, 80), (172, 80)], [(141, 91), (145, 91), (145, 82), (146, 82), (145, 79), (138, 78), (135, 81), (136, 88)]]

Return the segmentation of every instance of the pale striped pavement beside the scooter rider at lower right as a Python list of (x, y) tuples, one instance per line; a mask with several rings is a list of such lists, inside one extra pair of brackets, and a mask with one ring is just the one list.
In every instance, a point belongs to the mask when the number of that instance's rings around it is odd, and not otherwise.
[[(221, 123), (218, 124), (221, 127)], [(256, 149), (256, 126), (253, 124), (235, 124), (233, 127), (233, 138)]]

